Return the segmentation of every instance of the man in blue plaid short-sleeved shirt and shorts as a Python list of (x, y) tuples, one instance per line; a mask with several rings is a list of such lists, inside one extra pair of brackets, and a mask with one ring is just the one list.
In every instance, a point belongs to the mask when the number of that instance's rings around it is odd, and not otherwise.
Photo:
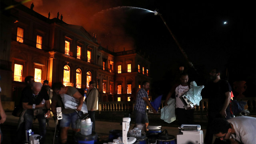
[(136, 103), (134, 106), (134, 114), (135, 114), (135, 124), (143, 124), (145, 123), (146, 128), (148, 126), (148, 115), (146, 113), (147, 105), (152, 109), (154, 114), (157, 114), (157, 111), (152, 107), (148, 100), (148, 90), (149, 90), (149, 82), (142, 82), (142, 88), (138, 91)]

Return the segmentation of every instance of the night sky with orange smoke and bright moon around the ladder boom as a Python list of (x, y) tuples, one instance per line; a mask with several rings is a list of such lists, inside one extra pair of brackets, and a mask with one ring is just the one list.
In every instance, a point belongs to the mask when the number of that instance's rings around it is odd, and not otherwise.
[[(168, 92), (180, 66), (198, 85), (206, 84), (210, 69), (218, 67), (231, 86), (245, 80), (245, 94), (255, 96), (255, 1), (32, 0), (25, 5), (30, 7), (32, 2), (34, 11), (46, 17), (48, 12), (50, 18), (60, 12), (64, 22), (95, 33), (98, 42), (111, 51), (136, 48), (145, 53), (152, 62), (154, 92)], [(160, 16), (150, 12), (156, 8), (194, 68)]]

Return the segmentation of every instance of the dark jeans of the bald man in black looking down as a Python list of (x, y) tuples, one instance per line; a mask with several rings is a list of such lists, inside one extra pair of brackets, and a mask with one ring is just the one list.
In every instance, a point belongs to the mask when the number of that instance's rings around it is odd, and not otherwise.
[[(44, 117), (44, 114), (38, 114), (36, 115), (36, 118), (39, 122), (39, 135), (42, 136), (42, 139), (40, 140), (40, 144), (44, 143), (45, 135), (46, 135), (46, 118)], [(26, 110), (24, 114), (24, 122), (25, 122), (25, 130), (32, 129), (34, 120), (34, 110)]]

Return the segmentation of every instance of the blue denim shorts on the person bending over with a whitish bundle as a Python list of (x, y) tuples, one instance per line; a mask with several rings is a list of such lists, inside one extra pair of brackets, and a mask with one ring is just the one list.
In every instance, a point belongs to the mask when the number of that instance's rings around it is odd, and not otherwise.
[(71, 114), (62, 114), (62, 120), (60, 120), (60, 127), (69, 127), (71, 123), (71, 127), (74, 129), (79, 128), (80, 119), (76, 112)]

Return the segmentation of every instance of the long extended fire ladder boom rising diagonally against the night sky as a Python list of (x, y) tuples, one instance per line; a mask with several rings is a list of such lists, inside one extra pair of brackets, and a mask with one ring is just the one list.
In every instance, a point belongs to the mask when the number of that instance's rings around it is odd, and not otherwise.
[(165, 21), (164, 18), (162, 17), (162, 14), (160, 14), (160, 13), (158, 12), (158, 9), (155, 10), (154, 14), (155, 14), (155, 16), (157, 16), (157, 15), (160, 16), (160, 18), (161, 18), (162, 21), (164, 22), (165, 26), (166, 26), (167, 29), (169, 30), (170, 34), (172, 35), (172, 38), (173, 38), (174, 41), (176, 42), (176, 44), (177, 44), (177, 46), (179, 47), (180, 51), (182, 52), (183, 56), (184, 56), (185, 59), (188, 61), (189, 66), (191, 66), (192, 68), (194, 68), (194, 70), (196, 70), (196, 68), (194, 67), (194, 65), (192, 64), (192, 62), (190, 62), (190, 61), (188, 60), (188, 56), (187, 56), (186, 52), (184, 52), (184, 50), (181, 48), (181, 46), (180, 46), (178, 40), (175, 38), (174, 34), (172, 34), (172, 31), (170, 30), (170, 28), (169, 28), (168, 25), (166, 24), (166, 21)]

